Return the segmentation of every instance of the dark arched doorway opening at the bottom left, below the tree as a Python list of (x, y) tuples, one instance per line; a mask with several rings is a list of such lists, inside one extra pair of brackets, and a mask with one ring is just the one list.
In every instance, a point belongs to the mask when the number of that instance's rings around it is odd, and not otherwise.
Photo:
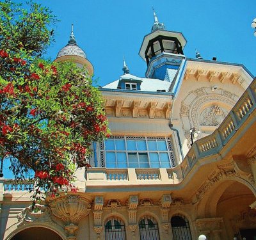
[(10, 240), (63, 240), (56, 232), (44, 227), (26, 228), (13, 236)]

